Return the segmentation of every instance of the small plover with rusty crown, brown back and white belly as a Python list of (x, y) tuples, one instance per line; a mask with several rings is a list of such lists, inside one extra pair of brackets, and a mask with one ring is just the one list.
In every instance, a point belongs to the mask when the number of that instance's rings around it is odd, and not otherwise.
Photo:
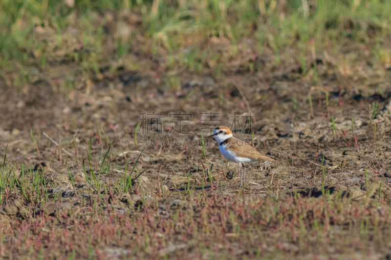
[(248, 143), (232, 136), (231, 130), (225, 126), (218, 126), (213, 135), (218, 142), (220, 153), (230, 161), (239, 163), (240, 168), (240, 185), (243, 186), (246, 178), (246, 170), (243, 162), (260, 161), (260, 160), (277, 160), (276, 158), (263, 155)]

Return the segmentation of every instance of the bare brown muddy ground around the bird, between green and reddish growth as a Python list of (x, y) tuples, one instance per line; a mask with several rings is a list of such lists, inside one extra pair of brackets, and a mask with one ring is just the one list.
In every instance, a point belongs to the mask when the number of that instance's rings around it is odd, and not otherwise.
[[(285, 52), (289, 53), (290, 50)], [(247, 116), (250, 110), (254, 116), (251, 127), (247, 125), (244, 133), (238, 131), (234, 135), (252, 143), (253, 134), (254, 146), (278, 161), (246, 164), (245, 195), (277, 198), (278, 201), (290, 200), (295, 194), (317, 198), (322, 197), (324, 184), (326, 193), (345, 196), (351, 201), (378, 200), (381, 195), (379, 187), (382, 187), (381, 199), (390, 201), (391, 71), (374, 61), (366, 46), (346, 47), (343, 53), (329, 53), (318, 58), (317, 82), (314, 83), (314, 65), (310, 59), (303, 75), (300, 64), (289, 55), (285, 55), (281, 64), (276, 66), (271, 54), (270, 50), (257, 59), (243, 56), (239, 61), (228, 60), (223, 69), (224, 77), (216, 78), (208, 71), (197, 75), (186, 70), (179, 71), (176, 77), (180, 87), (175, 91), (167, 89), (163, 79), (164, 67), (153, 60), (151, 64), (146, 61), (149, 66), (139, 73), (126, 71), (123, 67), (105, 71), (102, 67), (101, 77), (92, 82), (86, 83), (83, 78), (75, 77), (75, 86), (69, 95), (55, 91), (53, 84), (55, 86), (56, 80), (61, 79), (48, 80), (44, 72), (35, 78), (32, 76), (22, 93), (0, 81), (1, 156), (4, 156), (9, 135), (6, 162), (12, 159), (10, 165), (15, 165), (17, 174), (23, 165), (26, 179), (37, 172), (42, 175), (47, 185), (48, 200), (56, 201), (54, 204), (41, 204), (42, 201), (33, 199), (34, 191), (27, 192), (26, 199), (20, 190), (11, 189), (7, 201), (2, 200), (3, 211), (8, 210), (8, 213), (4, 211), (0, 215), (3, 227), (5, 223), (16, 225), (15, 221), (21, 218), (25, 219), (23, 221), (38, 218), (36, 216), (40, 214), (37, 212), (42, 211), (51, 218), (60, 218), (56, 215), (59, 208), (66, 209), (62, 212), (76, 207), (83, 211), (88, 203), (93, 203), (91, 201), (97, 195), (82, 169), (83, 159), (87, 159), (85, 144), (88, 146), (91, 135), (91, 160), (95, 172), (110, 143), (106, 159), (109, 170), (100, 177), (100, 192), (107, 194), (105, 198), (118, 214), (127, 212), (129, 205), (137, 208), (140, 203), (147, 203), (142, 198), (158, 198), (159, 186), (160, 196), (168, 198), (166, 202), (159, 203), (165, 205), (165, 214), (169, 217), (178, 207), (182, 208), (181, 201), (186, 200), (188, 187), (194, 188), (194, 200), (202, 194), (220, 199), (234, 198), (240, 194), (239, 167), (220, 155), (215, 142), (205, 147), (206, 157), (199, 145), (148, 146), (136, 165), (138, 173), (148, 170), (137, 179), (129, 192), (124, 193), (120, 181), (124, 178), (125, 167), (129, 173), (139, 151), (143, 149), (140, 146), (136, 151), (134, 143), (134, 130), (140, 122), (139, 113), (152, 111), (163, 114), (159, 117), (161, 132), (153, 136), (159, 138), (161, 143), (166, 138), (200, 140), (200, 112), (221, 112), (222, 121), (219, 123), (230, 127), (230, 116), (235, 111), (237, 115)], [(248, 71), (249, 64), (256, 67), (252, 73)], [(69, 64), (53, 68), (58, 71), (65, 69), (72, 68)], [(328, 92), (328, 106), (325, 90)], [(376, 103), (377, 109), (373, 112)], [(169, 134), (173, 127), (177, 128), (177, 122), (173, 122), (169, 114), (178, 111), (192, 113), (192, 118), (186, 122), (189, 126), (182, 129), (190, 134)], [(335, 122), (335, 131), (332, 130), (331, 117)], [(352, 132), (352, 119), (356, 140)], [(211, 125), (211, 128), (215, 126)], [(209, 135), (209, 130), (204, 135)], [(137, 139), (148, 140), (151, 136), (139, 132)], [(63, 143), (64, 150), (60, 150), (55, 142)], [(129, 155), (128, 159), (124, 152)], [(213, 164), (212, 180), (206, 172), (207, 183), (200, 160), (206, 169)], [(87, 178), (91, 178), (87, 164), (86, 169)], [(370, 190), (365, 185), (366, 179)], [(175, 206), (175, 203), (178, 205)], [(7, 208), (6, 205), (13, 205), (14, 208)], [(196, 203), (193, 206), (201, 207)], [(103, 207), (104, 214), (107, 214), (107, 207), (109, 204)], [(57, 228), (62, 229), (63, 226), (59, 224)], [(176, 254), (185, 248), (178, 240), (171, 246), (165, 247), (167, 252), (159, 252), (163, 255)], [(117, 248), (126, 250), (127, 246)], [(96, 250), (93, 253), (95, 256), (99, 255)], [(293, 254), (297, 251), (292, 248), (286, 250)], [(108, 252), (102, 258), (110, 258), (111, 253), (113, 257), (123, 257), (129, 253)], [(77, 254), (78, 257), (86, 257)], [(238, 254), (243, 257), (240, 252)], [(60, 255), (54, 257), (61, 258)], [(18, 258), (23, 253), (11, 252), (8, 256)]]

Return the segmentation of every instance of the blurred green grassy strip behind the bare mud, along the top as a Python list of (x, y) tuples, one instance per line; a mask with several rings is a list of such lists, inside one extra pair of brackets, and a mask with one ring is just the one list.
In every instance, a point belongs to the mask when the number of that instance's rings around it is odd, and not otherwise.
[(274, 66), (289, 58), (304, 68), (308, 57), (363, 42), (388, 66), (390, 13), (387, 0), (2, 0), (0, 76), (21, 92), (30, 80), (61, 76), (53, 84), (67, 93), (156, 63), (167, 75), (220, 77), (232, 73), (232, 59), (267, 51)]

